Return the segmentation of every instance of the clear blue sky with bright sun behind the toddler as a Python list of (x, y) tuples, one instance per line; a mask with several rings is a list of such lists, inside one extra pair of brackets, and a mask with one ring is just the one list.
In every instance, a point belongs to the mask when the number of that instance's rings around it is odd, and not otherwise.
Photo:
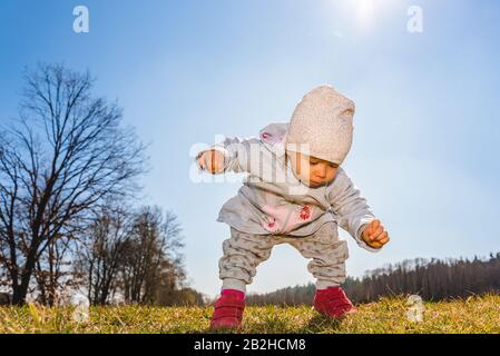
[[(79, 4), (89, 33), (72, 31)], [(410, 6), (421, 33), (406, 30)], [(255, 136), (331, 83), (356, 102), (345, 169), (392, 237), (373, 255), (341, 231), (347, 273), (487, 256), (500, 251), (499, 19), (494, 0), (3, 0), (0, 120), (16, 116), (26, 66), (88, 68), (150, 142), (144, 202), (178, 215), (192, 285), (215, 295), (229, 233), (215, 219), (238, 184), (193, 182), (192, 146)], [(306, 264), (277, 246), (248, 290), (312, 281)]]

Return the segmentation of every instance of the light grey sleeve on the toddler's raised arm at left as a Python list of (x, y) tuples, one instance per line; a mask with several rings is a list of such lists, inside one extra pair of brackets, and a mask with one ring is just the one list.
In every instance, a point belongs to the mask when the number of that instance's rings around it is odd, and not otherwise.
[(218, 150), (224, 155), (224, 172), (234, 171), (249, 171), (249, 152), (252, 145), (259, 145), (259, 140), (256, 138), (225, 138), (222, 142), (200, 151), (196, 156), (196, 160), (204, 152), (212, 149)]

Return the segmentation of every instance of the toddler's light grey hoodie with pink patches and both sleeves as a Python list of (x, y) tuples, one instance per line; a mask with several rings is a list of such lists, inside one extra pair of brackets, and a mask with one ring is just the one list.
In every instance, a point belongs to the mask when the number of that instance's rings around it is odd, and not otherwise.
[(291, 237), (312, 235), (323, 224), (334, 221), (359, 246), (379, 251), (361, 237), (364, 226), (375, 217), (342, 167), (329, 185), (317, 188), (295, 177), (285, 161), (287, 128), (288, 123), (271, 123), (258, 138), (226, 138), (209, 148), (224, 154), (224, 171), (248, 174), (238, 194), (223, 205), (217, 221), (247, 234)]

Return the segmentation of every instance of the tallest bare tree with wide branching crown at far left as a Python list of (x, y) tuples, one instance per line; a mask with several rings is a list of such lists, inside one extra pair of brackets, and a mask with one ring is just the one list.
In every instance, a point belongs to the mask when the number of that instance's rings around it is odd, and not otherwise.
[(144, 147), (94, 79), (59, 65), (26, 76), (20, 118), (0, 134), (0, 264), (23, 304), (37, 261), (110, 195), (134, 191)]

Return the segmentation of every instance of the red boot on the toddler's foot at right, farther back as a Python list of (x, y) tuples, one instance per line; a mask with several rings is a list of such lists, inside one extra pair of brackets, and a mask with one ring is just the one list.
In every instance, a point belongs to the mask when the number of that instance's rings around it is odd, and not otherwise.
[(314, 295), (314, 308), (334, 319), (342, 319), (345, 315), (356, 312), (341, 287), (317, 289)]

